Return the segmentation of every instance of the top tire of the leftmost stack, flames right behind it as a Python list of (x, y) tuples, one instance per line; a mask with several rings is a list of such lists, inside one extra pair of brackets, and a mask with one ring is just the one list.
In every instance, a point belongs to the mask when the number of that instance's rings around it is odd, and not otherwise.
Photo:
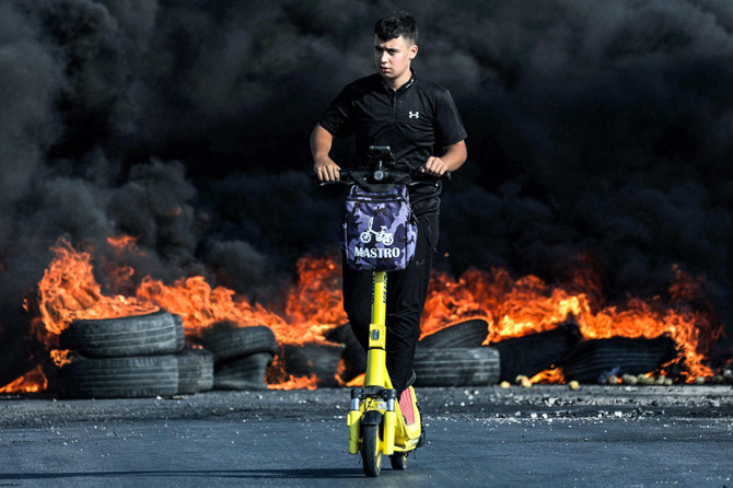
[(172, 355), (178, 350), (176, 325), (164, 311), (118, 318), (73, 321), (59, 337), (61, 349), (88, 358)]

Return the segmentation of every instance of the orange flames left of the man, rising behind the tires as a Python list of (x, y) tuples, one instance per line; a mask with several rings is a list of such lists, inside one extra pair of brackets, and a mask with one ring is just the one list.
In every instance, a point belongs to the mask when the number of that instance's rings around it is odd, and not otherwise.
[[(109, 242), (136, 252), (133, 239), (115, 237)], [(338, 312), (341, 310), (340, 290), (309, 286), (310, 282), (329, 286), (336, 276), (340, 277), (340, 269), (324, 260), (299, 262), (303, 277), (290, 293), (286, 312), (289, 321), (286, 321), (231, 289), (212, 288), (201, 276), (182, 278), (173, 284), (146, 277), (136, 297), (108, 297), (94, 278), (91, 253), (75, 251), (66, 240), (59, 240), (53, 251), (56, 258), (38, 283), (40, 317), (53, 334), (60, 334), (75, 318), (118, 317), (163, 307), (183, 317), (188, 334), (199, 334), (213, 323), (226, 321), (241, 327), (267, 325), (281, 344), (323, 342), (322, 332), (337, 319), (335, 317), (345, 316)], [(322, 298), (328, 295), (326, 306), (319, 305)]]

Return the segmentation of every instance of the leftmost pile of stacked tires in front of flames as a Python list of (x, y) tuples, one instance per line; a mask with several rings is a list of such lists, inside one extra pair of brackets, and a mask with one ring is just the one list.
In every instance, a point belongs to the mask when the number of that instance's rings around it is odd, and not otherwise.
[(164, 310), (118, 318), (77, 319), (59, 336), (71, 362), (59, 368), (59, 394), (120, 398), (211, 390), (213, 357), (187, 348), (183, 321)]

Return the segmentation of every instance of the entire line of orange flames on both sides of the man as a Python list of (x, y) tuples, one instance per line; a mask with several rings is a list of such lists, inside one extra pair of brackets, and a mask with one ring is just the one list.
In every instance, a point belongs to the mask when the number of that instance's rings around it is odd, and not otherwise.
[[(107, 242), (118, 253), (144, 254), (137, 248), (133, 237), (116, 236)], [(56, 335), (75, 318), (118, 317), (150, 313), (159, 307), (181, 315), (189, 335), (225, 321), (241, 327), (267, 325), (280, 344), (323, 344), (325, 330), (347, 322), (342, 310), (341, 268), (329, 257), (306, 256), (298, 262), (298, 283), (288, 294), (286, 310), (278, 314), (251, 303), (233, 290), (211, 287), (201, 276), (182, 278), (173, 284), (146, 277), (137, 289), (132, 287), (133, 295), (107, 295), (94, 278), (90, 252), (77, 251), (65, 240), (59, 240), (53, 251), (55, 258), (38, 283), (38, 322), (50, 336), (49, 350)], [(489, 323), (485, 344), (491, 344), (549, 330), (572, 315), (585, 338), (651, 338), (670, 334), (680, 348), (687, 381), (712, 373), (703, 363), (705, 355), (722, 334), (722, 325), (689, 305), (690, 299), (699, 292), (699, 279), (674, 268), (668, 299), (630, 298), (620, 304), (606, 305), (598, 271), (587, 263), (583, 265), (562, 286), (549, 286), (535, 276), (513, 279), (503, 269), (469, 269), (458, 279), (434, 272), (422, 315), (422, 336), (458, 321), (484, 318)], [(135, 270), (106, 266), (104, 275), (107, 279), (121, 276), (131, 283)], [(25, 306), (31, 310), (27, 303)], [(43, 371), (38, 371), (43, 376)], [(562, 381), (559, 371), (540, 375), (533, 380)], [(45, 376), (43, 379), (39, 390), (47, 385)], [(270, 387), (313, 388), (316, 381), (315, 377), (288, 377), (280, 371), (270, 379)]]

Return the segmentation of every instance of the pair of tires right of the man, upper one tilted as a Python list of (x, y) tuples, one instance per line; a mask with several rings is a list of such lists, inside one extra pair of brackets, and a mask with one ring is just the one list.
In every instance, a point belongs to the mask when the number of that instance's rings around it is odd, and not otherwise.
[(499, 351), (481, 346), (488, 323), (470, 319), (426, 336), (412, 369), (416, 386), (486, 386), (499, 381)]

